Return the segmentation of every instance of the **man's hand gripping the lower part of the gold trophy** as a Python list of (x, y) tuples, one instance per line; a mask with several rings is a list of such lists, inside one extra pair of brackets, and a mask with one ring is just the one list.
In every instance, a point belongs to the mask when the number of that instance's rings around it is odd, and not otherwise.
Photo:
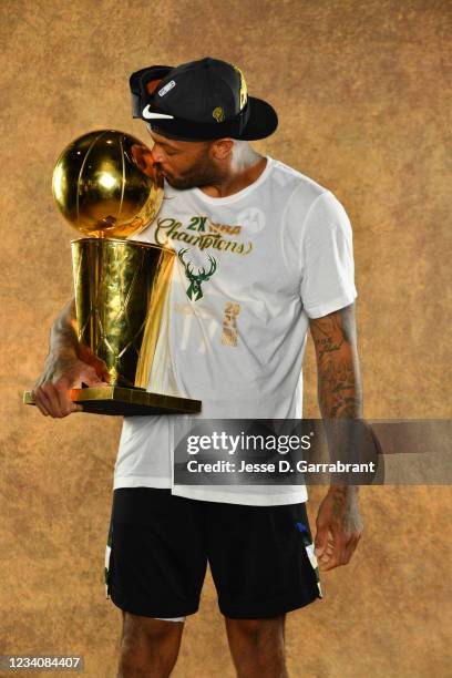
[(71, 389), (82, 382), (89, 387), (109, 386), (109, 381), (104, 361), (80, 345), (79, 355), (72, 349), (49, 353), (31, 394), (44, 417), (60, 419), (83, 410), (83, 405), (71, 400)]

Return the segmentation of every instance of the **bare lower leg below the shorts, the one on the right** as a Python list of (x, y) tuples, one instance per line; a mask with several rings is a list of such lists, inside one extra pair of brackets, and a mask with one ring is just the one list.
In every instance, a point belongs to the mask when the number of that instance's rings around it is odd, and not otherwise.
[(287, 678), (285, 620), (286, 615), (266, 619), (225, 617), (237, 678)]

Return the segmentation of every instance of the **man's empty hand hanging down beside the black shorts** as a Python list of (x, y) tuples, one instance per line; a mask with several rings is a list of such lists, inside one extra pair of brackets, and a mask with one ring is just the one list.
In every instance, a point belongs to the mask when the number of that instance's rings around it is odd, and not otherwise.
[(362, 534), (358, 487), (331, 486), (316, 521), (315, 553), (320, 571), (347, 565)]

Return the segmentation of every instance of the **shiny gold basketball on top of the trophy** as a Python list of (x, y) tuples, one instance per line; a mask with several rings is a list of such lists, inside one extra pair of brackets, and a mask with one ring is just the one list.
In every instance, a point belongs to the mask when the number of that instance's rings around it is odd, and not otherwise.
[(140, 140), (97, 130), (69, 144), (56, 161), (52, 189), (63, 217), (84, 236), (127, 238), (143, 230), (163, 199), (163, 177), (145, 174), (134, 152), (151, 153)]

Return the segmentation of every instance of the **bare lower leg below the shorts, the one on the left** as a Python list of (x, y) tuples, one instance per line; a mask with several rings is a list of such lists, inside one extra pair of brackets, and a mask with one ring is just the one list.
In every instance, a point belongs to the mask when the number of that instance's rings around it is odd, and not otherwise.
[(166, 678), (176, 664), (183, 622), (123, 614), (117, 678)]

